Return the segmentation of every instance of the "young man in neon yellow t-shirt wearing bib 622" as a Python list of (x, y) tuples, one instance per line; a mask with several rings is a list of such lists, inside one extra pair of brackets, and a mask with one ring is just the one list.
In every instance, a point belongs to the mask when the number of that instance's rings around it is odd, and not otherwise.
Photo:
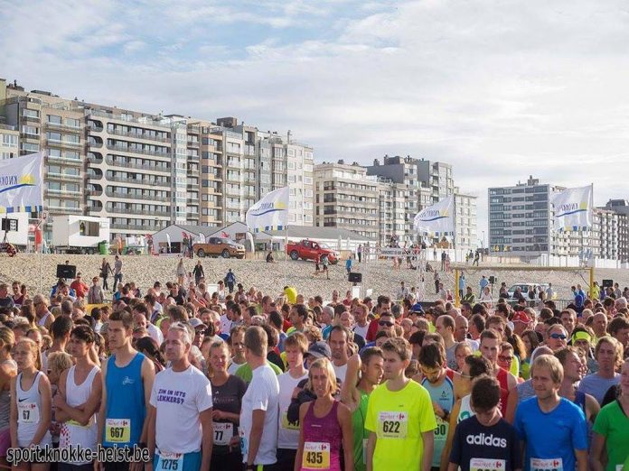
[(367, 469), (421, 469), (432, 463), (437, 428), (430, 394), (409, 380), (404, 370), (410, 363), (410, 346), (404, 338), (390, 338), (382, 345), (384, 375), (369, 398), (365, 429)]

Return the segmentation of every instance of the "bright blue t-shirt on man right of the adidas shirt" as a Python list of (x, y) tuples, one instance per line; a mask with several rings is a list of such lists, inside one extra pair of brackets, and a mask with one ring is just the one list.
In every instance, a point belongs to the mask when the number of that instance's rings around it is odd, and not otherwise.
[[(575, 449), (587, 450), (586, 416), (568, 399), (561, 398), (553, 411), (543, 412), (537, 397), (531, 397), (518, 406), (513, 425), (526, 441), (525, 471), (572, 471), (577, 466)], [(535, 460), (545, 463), (531, 466)]]

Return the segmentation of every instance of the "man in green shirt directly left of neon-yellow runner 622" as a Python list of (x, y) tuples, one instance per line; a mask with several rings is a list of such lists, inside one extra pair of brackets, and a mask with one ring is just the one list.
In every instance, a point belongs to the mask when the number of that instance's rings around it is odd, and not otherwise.
[(347, 361), (341, 400), (352, 411), (353, 458), (356, 471), (367, 469), (366, 450), (369, 439), (369, 432), (365, 429), (367, 404), (371, 392), (382, 382), (383, 365), (382, 350), (375, 346), (365, 348), (360, 356), (353, 355)]

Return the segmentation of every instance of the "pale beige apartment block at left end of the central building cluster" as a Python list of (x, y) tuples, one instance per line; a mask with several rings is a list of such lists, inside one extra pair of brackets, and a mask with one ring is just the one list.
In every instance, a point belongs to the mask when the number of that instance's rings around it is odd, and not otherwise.
[(357, 163), (314, 166), (314, 226), (339, 227), (379, 240), (380, 183)]

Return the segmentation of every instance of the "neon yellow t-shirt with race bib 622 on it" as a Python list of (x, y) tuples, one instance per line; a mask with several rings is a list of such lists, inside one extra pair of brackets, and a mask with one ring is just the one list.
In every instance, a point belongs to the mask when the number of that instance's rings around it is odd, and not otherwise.
[(373, 469), (419, 469), (424, 454), (421, 434), (437, 428), (430, 394), (409, 381), (401, 391), (380, 384), (369, 397), (365, 429), (378, 436)]

